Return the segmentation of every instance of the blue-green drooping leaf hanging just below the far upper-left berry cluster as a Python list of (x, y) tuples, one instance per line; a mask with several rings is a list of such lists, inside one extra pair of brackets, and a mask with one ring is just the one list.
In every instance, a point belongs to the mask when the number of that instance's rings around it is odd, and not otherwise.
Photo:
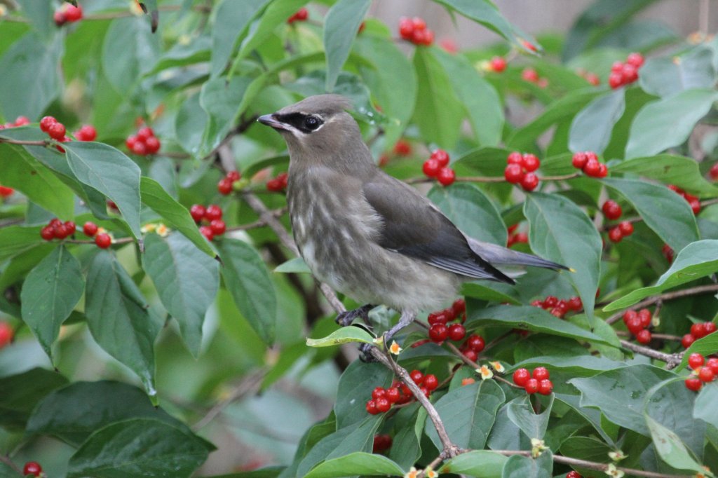
[(63, 147), (75, 177), (109, 197), (139, 238), (140, 170), (134, 161), (102, 143), (72, 141)]

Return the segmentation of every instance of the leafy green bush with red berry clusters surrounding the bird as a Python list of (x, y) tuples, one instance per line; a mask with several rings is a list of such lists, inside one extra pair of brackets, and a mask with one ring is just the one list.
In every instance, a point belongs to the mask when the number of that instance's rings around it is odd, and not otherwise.
[[(437, 3), (495, 44), (370, 0), (0, 2), (0, 477), (714, 476), (718, 39)], [(339, 327), (256, 123), (326, 92), (467, 235), (571, 271), (388, 350), (394, 311)]]

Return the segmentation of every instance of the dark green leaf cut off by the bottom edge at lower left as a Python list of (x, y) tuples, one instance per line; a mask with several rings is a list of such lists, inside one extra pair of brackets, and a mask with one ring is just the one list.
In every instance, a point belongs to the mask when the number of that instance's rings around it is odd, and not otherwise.
[(70, 457), (67, 477), (189, 478), (210, 449), (200, 437), (169, 423), (133, 418), (90, 435)]

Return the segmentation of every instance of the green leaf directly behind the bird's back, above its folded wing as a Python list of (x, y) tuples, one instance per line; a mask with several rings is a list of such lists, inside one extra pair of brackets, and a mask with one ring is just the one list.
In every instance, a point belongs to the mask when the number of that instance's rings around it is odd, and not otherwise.
[(475, 184), (462, 182), (449, 187), (436, 186), (429, 191), (428, 197), (466, 235), (488, 243), (506, 243), (506, 226), (501, 215)]

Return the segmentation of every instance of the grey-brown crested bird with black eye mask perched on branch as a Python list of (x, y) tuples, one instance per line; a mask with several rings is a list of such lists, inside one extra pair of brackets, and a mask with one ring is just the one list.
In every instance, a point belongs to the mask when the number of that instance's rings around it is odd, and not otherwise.
[[(314, 276), (367, 305), (401, 311), (388, 341), (419, 311), (454, 299), (464, 281), (513, 284), (495, 266), (564, 266), (467, 237), (426, 197), (379, 169), (340, 95), (317, 95), (258, 121), (289, 149), (287, 202), (294, 240)], [(493, 263), (493, 265), (492, 265)]]

